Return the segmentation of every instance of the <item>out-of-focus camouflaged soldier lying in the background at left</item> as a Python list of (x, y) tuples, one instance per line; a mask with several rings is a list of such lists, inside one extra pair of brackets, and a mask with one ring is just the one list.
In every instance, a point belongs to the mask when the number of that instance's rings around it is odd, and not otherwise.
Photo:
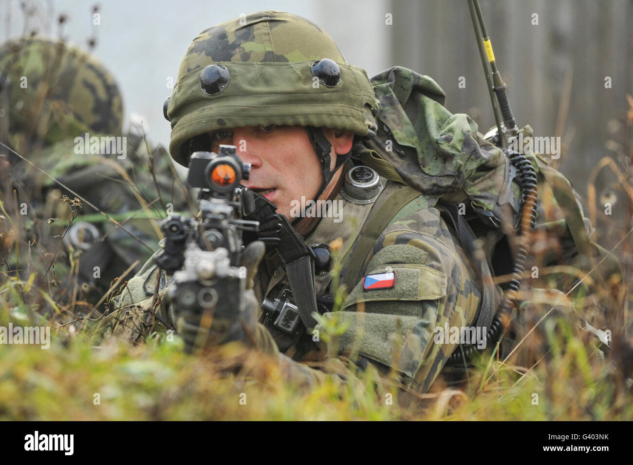
[(94, 304), (158, 249), (156, 220), (183, 208), (180, 186), (174, 177), (152, 177), (150, 164), (162, 171), (170, 164), (164, 150), (123, 137), (118, 85), (89, 54), (51, 39), (13, 40), (0, 48), (0, 74), (1, 140), (47, 173), (3, 148), (11, 176), (1, 192), (10, 208), (15, 189), (19, 208), (9, 216), (20, 239), (20, 257), (3, 271), (37, 272), (61, 283), (58, 302)]

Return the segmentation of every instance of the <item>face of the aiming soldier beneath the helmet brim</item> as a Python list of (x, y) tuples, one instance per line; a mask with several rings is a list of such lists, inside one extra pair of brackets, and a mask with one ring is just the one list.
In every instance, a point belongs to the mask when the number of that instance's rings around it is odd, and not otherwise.
[[(351, 149), (353, 134), (324, 129), (325, 137), (332, 144), (330, 152), (332, 170), (337, 154)], [(277, 213), (291, 218), (291, 202), (315, 200), (323, 182), (321, 164), (310, 142), (308, 131), (301, 126), (239, 127), (217, 130), (211, 134), (213, 151), (220, 144), (237, 147), (237, 155), (244, 163), (251, 163), (251, 176), (242, 183), (277, 206)], [(329, 194), (340, 176), (332, 179)]]

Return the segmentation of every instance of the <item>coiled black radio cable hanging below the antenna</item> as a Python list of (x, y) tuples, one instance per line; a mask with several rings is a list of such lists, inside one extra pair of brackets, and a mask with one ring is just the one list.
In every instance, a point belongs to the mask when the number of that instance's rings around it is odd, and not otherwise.
[[(520, 235), (520, 243), (518, 245), (517, 258), (512, 271), (512, 279), (508, 283), (503, 298), (499, 303), (497, 313), (492, 318), (492, 323), (486, 332), (486, 347), (496, 344), (501, 332), (510, 324), (510, 316), (512, 310), (517, 304), (517, 294), (521, 287), (521, 275), (525, 270), (525, 262), (530, 253), (530, 232), (534, 229), (536, 223), (536, 202), (538, 199), (536, 171), (532, 162), (515, 151), (508, 151), (508, 158), (519, 172), (522, 184), (522, 207), (521, 222), (519, 223), (518, 233)], [(447, 364), (463, 363), (472, 357), (477, 350), (477, 346), (467, 345), (462, 350), (455, 350), (448, 358)]]

